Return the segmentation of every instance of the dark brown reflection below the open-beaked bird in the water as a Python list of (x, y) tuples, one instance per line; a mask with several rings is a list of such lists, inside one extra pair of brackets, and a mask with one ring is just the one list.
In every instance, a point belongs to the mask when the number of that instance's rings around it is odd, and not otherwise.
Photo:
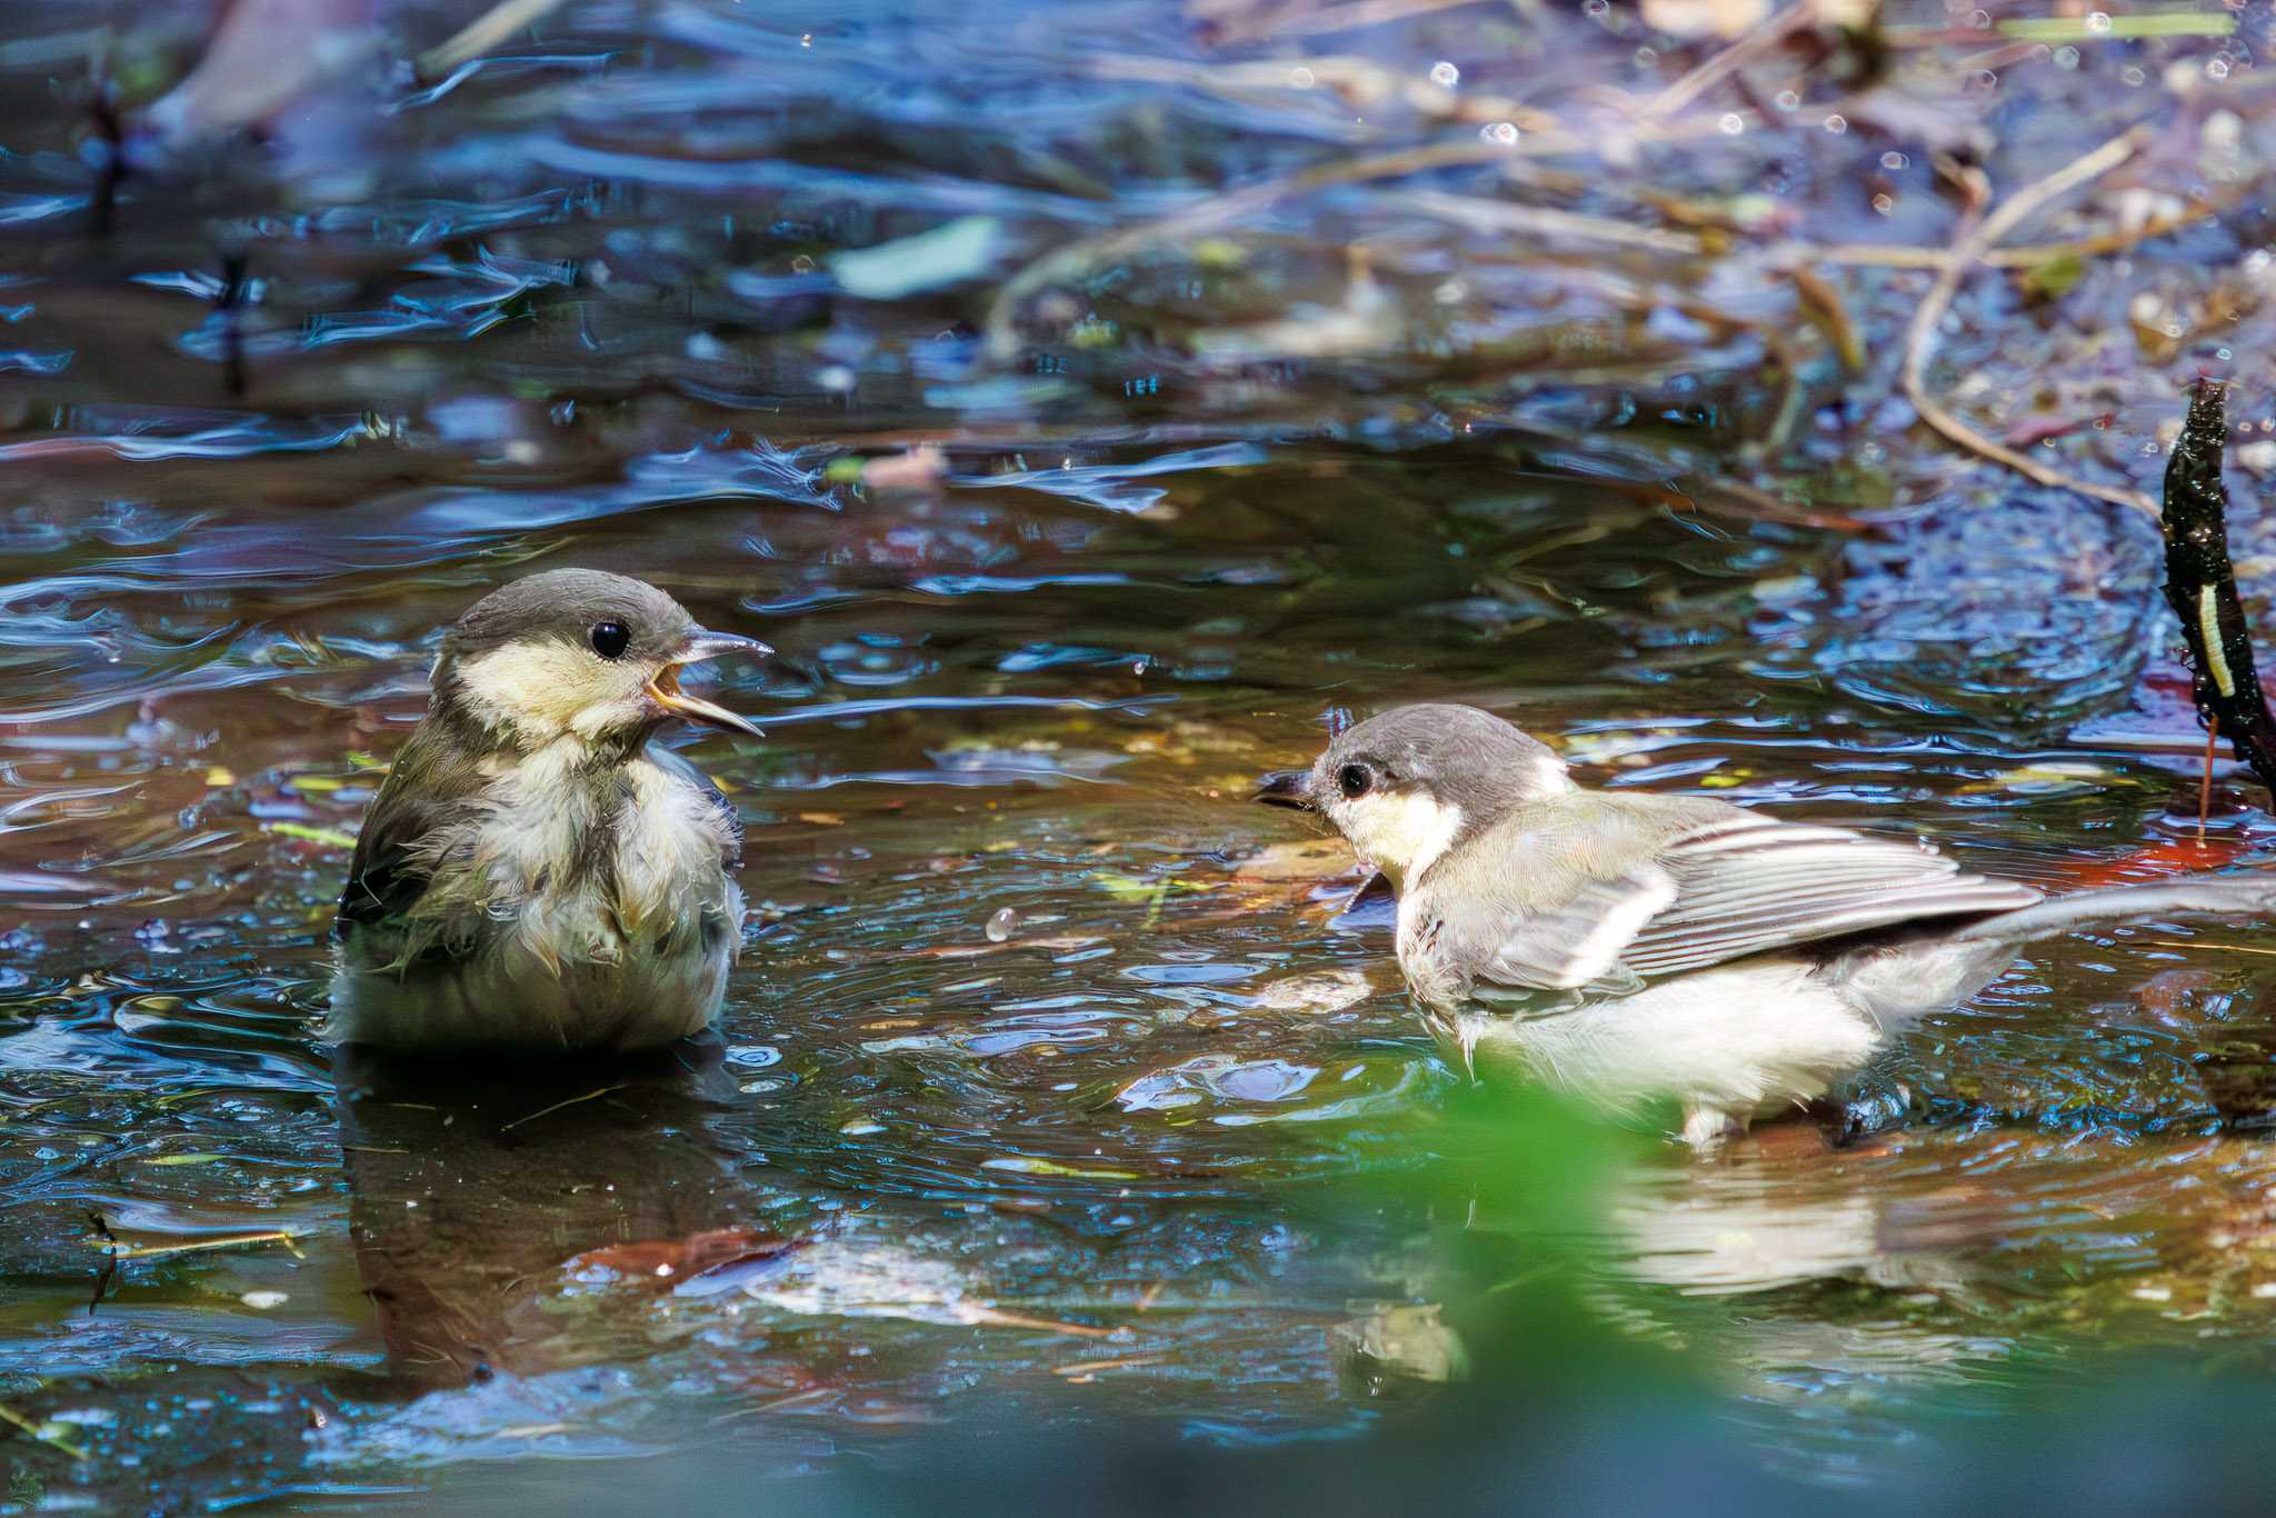
[(758, 1224), (781, 1188), (747, 1179), (721, 1131), (735, 1083), (717, 1049), (489, 1074), (344, 1049), (337, 1083), (355, 1256), (412, 1384), (621, 1352), (592, 1320), (564, 1331), (555, 1309), (580, 1279), (628, 1279), (621, 1327), (642, 1331), (649, 1288), (792, 1247)]

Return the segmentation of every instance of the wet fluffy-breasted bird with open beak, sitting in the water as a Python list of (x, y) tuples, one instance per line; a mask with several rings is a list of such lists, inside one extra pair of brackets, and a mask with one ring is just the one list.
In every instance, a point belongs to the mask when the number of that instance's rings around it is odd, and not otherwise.
[(758, 737), (681, 690), (772, 649), (617, 574), (553, 569), (444, 635), (428, 715), (364, 817), (339, 899), (335, 1042), (646, 1049), (710, 1026), (742, 951), (742, 826), (653, 737)]

